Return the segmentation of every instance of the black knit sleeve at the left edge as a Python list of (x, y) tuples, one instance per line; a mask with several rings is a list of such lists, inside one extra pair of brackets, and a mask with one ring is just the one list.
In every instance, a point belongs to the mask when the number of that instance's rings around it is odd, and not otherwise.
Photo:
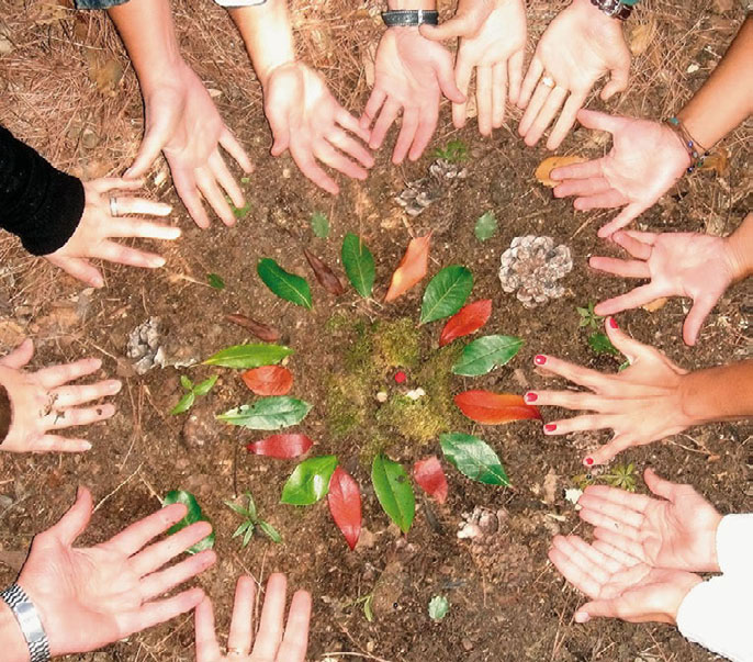
[(61, 248), (78, 227), (86, 203), (81, 180), (53, 168), (0, 126), (0, 227), (32, 255)]

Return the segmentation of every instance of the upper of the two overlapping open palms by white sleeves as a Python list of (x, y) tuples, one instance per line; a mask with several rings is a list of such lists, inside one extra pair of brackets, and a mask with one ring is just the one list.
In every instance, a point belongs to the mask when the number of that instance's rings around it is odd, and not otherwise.
[(659, 478), (651, 469), (645, 484), (662, 500), (606, 485), (591, 485), (578, 500), (581, 519), (594, 536), (655, 568), (719, 572), (717, 528), (721, 515), (690, 485)]

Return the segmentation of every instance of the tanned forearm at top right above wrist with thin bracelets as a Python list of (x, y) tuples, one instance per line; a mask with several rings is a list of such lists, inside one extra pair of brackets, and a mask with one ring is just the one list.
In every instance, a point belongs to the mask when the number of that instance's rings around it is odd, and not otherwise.
[(753, 87), (746, 82), (751, 80), (753, 18), (749, 16), (711, 76), (677, 113), (703, 147), (709, 149), (753, 112)]

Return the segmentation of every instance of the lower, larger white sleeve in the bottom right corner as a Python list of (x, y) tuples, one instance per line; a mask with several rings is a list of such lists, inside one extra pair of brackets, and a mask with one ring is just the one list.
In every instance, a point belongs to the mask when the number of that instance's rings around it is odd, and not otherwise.
[(733, 662), (753, 662), (751, 595), (750, 574), (701, 582), (679, 605), (677, 628), (689, 641)]

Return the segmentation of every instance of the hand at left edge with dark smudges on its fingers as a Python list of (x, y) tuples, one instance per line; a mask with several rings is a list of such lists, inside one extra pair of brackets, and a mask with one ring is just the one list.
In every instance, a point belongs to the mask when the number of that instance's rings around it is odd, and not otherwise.
[(0, 450), (9, 452), (81, 452), (91, 444), (86, 439), (69, 439), (50, 431), (77, 425), (106, 420), (115, 413), (111, 404), (78, 407), (114, 395), (121, 382), (108, 380), (83, 386), (72, 382), (97, 372), (99, 359), (81, 359), (75, 363), (43, 368), (36, 372), (21, 370), (34, 355), (34, 344), (24, 340), (0, 359), (0, 384), (8, 391), (13, 419)]

